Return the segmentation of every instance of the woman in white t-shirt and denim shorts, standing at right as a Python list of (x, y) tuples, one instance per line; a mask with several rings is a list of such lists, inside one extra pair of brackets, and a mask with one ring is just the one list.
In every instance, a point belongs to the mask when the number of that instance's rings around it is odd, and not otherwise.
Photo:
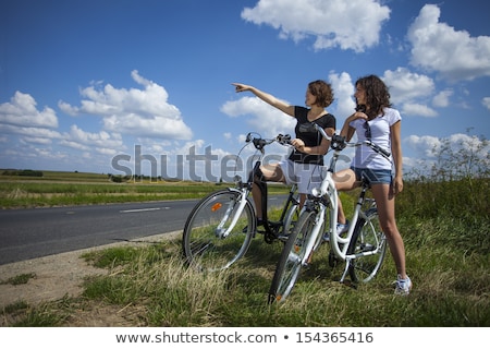
[[(401, 116), (391, 108), (390, 93), (387, 85), (376, 75), (359, 79), (354, 97), (358, 108), (350, 116), (342, 128), (341, 135), (347, 142), (357, 135), (359, 142), (371, 140), (375, 144), (389, 151), (390, 159), (376, 153), (368, 146), (356, 147), (351, 168), (335, 173), (336, 188), (348, 191), (359, 185), (362, 176), (369, 179), (372, 195), (378, 207), (378, 215), (391, 254), (396, 265), (396, 294), (408, 294), (412, 280), (405, 269), (405, 248), (396, 227), (394, 197), (403, 190)], [(393, 171), (394, 167), (394, 171)], [(341, 206), (341, 205), (340, 205)], [(345, 224), (342, 207), (339, 207), (339, 222)]]

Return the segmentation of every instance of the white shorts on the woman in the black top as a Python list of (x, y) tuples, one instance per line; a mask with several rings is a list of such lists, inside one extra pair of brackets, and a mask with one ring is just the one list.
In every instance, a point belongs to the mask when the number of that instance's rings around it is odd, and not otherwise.
[(299, 164), (292, 160), (279, 163), (287, 185), (297, 184), (298, 193), (310, 194), (314, 188), (319, 188), (324, 173), (323, 166), (318, 164)]

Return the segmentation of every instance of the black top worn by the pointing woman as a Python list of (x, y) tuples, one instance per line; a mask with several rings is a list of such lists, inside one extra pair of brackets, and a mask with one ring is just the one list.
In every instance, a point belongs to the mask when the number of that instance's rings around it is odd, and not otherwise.
[[(294, 117), (296, 118), (296, 128), (294, 131), (296, 132), (296, 139), (302, 140), (305, 142), (306, 146), (318, 146), (321, 143), (322, 136), (319, 132), (301, 132), (299, 125), (302, 123), (309, 122), (308, 121), (308, 108), (305, 107), (294, 107)], [(333, 129), (335, 130), (335, 117), (333, 117), (331, 113), (326, 113), (324, 116), (318, 118), (317, 120), (313, 121), (316, 124), (318, 124), (322, 129)], [(291, 153), (290, 160), (294, 163), (301, 163), (301, 164), (317, 164), (317, 165), (323, 165), (323, 155), (310, 155), (302, 153), (297, 149), (294, 149), (293, 153)]]

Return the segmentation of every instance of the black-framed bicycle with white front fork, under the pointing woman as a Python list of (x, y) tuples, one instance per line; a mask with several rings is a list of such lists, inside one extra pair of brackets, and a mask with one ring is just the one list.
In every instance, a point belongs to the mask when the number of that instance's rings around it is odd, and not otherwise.
[[(253, 144), (259, 152), (246, 182), (236, 174), (235, 186), (219, 190), (201, 198), (187, 217), (183, 230), (182, 250), (188, 265), (203, 272), (230, 267), (247, 252), (256, 232), (264, 233), (267, 243), (285, 241), (297, 220), (299, 201), (293, 184), (278, 221), (268, 219), (267, 183), (260, 182), (264, 229), (257, 231), (257, 218), (249, 194), (254, 178), (265, 156), (265, 147), (274, 142), (290, 145), (291, 136), (279, 134), (275, 139), (256, 137), (248, 133), (245, 146)], [(245, 148), (245, 146), (243, 148)], [(242, 151), (243, 151), (242, 148)], [(241, 151), (241, 152), (242, 152)]]

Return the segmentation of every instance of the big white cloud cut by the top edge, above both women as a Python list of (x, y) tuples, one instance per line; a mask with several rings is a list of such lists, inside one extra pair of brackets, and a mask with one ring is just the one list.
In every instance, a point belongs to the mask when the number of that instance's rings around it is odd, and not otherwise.
[(390, 9), (375, 0), (259, 0), (242, 19), (280, 29), (282, 38), (315, 37), (317, 50), (340, 47), (362, 52), (379, 41)]

